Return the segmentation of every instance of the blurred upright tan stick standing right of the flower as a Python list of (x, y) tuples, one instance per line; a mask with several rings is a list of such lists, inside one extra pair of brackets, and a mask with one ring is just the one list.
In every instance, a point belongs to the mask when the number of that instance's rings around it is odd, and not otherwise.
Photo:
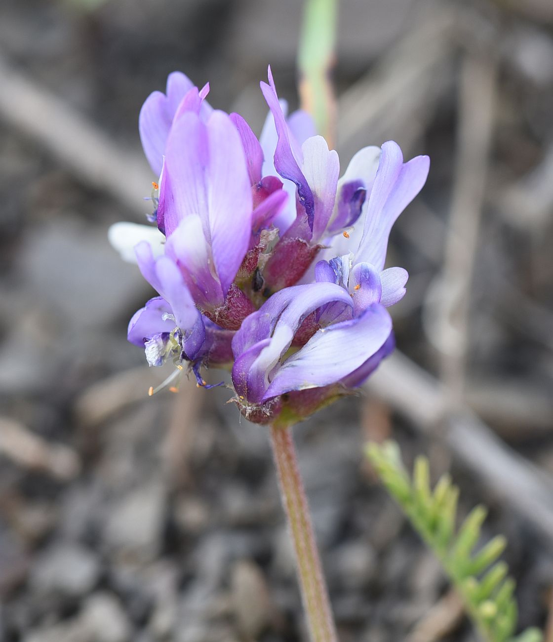
[(452, 406), (461, 403), (464, 392), (470, 293), (495, 119), (496, 76), (493, 55), (466, 53), (459, 85), (455, 182), (443, 273), (438, 277), (442, 296), (437, 298), (441, 304), (434, 311), (440, 376), (450, 391)]

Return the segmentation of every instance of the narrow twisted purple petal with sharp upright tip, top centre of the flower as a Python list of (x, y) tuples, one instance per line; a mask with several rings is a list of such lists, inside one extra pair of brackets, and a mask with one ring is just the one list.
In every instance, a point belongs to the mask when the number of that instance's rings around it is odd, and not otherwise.
[(260, 83), (261, 91), (269, 105), (273, 117), (275, 119), (276, 133), (278, 134), (278, 143), (276, 143), (275, 150), (275, 168), (276, 171), (283, 178), (287, 178), (296, 184), (298, 187), (298, 197), (309, 221), (309, 227), (313, 227), (313, 195), (311, 189), (305, 180), (305, 176), (300, 169), (298, 162), (302, 162), (301, 150), (296, 146), (293, 137), (289, 133), (288, 126), (282, 113), (282, 108), (278, 103), (278, 96), (276, 95), (275, 83), (273, 82), (273, 75), (269, 67), (269, 85), (267, 83)]

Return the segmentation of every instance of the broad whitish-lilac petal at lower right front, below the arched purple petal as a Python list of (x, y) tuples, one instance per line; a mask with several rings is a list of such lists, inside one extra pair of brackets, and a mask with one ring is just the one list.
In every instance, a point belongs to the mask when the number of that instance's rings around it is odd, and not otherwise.
[(361, 317), (319, 330), (276, 370), (262, 401), (340, 381), (382, 347), (391, 328), (386, 308), (375, 304)]

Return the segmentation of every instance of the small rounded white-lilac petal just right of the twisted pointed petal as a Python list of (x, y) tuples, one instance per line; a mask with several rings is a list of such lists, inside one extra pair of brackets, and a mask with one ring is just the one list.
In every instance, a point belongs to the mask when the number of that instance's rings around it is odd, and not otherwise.
[(312, 241), (319, 241), (334, 210), (340, 161), (336, 150), (328, 150), (322, 136), (308, 138), (302, 145), (302, 171), (313, 195)]

